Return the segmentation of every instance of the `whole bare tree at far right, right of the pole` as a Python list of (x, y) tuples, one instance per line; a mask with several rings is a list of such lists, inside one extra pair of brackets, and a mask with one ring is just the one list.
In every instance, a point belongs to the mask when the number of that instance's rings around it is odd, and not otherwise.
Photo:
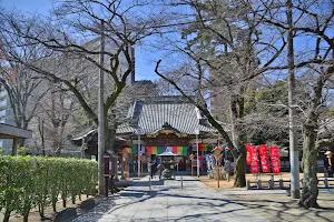
[[(291, 71), (308, 75), (307, 84), (304, 88), (311, 95), (310, 100), (304, 104), (294, 104), (292, 109), (298, 109), (303, 118), (303, 161), (304, 171), (303, 193), (299, 205), (304, 208), (318, 208), (317, 204), (317, 162), (318, 152), (317, 130), (320, 117), (325, 107), (326, 97), (324, 89), (330, 88), (327, 84), (333, 73), (333, 38), (331, 29), (333, 29), (333, 1), (288, 1), (291, 11), (291, 24), (284, 19), (285, 17), (272, 17), (268, 14), (265, 22), (281, 28), (282, 30), (291, 30), (291, 38), (294, 41), (303, 42), (308, 40), (303, 48), (295, 47), (291, 49), (295, 51), (296, 57), (291, 52), (289, 64), (287, 67), (277, 65), (275, 69), (287, 69)], [(285, 4), (277, 7), (278, 10), (285, 9)], [(289, 50), (289, 51), (291, 51)], [(295, 62), (292, 62), (295, 59)], [(305, 71), (306, 70), (306, 71)], [(303, 77), (303, 75), (302, 75)], [(298, 101), (299, 103), (302, 100)]]

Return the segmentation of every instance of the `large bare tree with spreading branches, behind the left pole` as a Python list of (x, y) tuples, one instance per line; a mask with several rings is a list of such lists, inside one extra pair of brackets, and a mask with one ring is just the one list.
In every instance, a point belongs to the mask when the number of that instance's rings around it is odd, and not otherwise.
[[(82, 77), (68, 74), (75, 71), (68, 60), (89, 63), (96, 70), (102, 70), (109, 78), (107, 97), (104, 101), (104, 117), (111, 114), (110, 108), (116, 104), (119, 94), (128, 83), (130, 74), (135, 71), (134, 46), (144, 38), (158, 33), (157, 27), (168, 19), (168, 14), (153, 11), (146, 1), (60, 1), (56, 6), (55, 17), (49, 20), (27, 18), (18, 13), (2, 13), (3, 36), (10, 38), (14, 46), (37, 44), (50, 52), (56, 68), (49, 69), (40, 62), (27, 62), (23, 58), (8, 51), (12, 60), (19, 61), (43, 77), (61, 83), (71, 91), (90, 119), (98, 124), (96, 111), (81, 93), (80, 81)], [(151, 14), (150, 14), (151, 13)], [(50, 26), (50, 22), (51, 26)], [(101, 33), (101, 23), (105, 24)], [(100, 39), (106, 39), (104, 51), (99, 49)], [(94, 39), (88, 44), (82, 44)], [(99, 63), (99, 57), (106, 58)], [(57, 64), (58, 62), (58, 64)], [(66, 68), (65, 68), (66, 67)], [(58, 69), (60, 68), (60, 69)], [(65, 68), (65, 69), (63, 69)], [(56, 71), (55, 71), (56, 70)], [(115, 130), (114, 130), (115, 131)], [(112, 144), (108, 122), (105, 122), (107, 147)], [(104, 165), (99, 165), (100, 172)], [(102, 174), (102, 173), (101, 173)], [(104, 184), (101, 184), (104, 185)], [(104, 192), (104, 189), (100, 189)]]

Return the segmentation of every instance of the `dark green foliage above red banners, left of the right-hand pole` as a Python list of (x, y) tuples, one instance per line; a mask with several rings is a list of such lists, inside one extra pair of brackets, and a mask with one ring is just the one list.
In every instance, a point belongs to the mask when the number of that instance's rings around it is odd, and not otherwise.
[(246, 142), (279, 144), (288, 142), (287, 82), (248, 91), (245, 95), (244, 131)]

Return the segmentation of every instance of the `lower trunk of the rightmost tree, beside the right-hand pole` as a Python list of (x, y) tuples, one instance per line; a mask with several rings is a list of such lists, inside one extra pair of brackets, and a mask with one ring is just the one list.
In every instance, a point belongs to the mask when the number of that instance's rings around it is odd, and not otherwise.
[(308, 118), (304, 124), (304, 144), (303, 144), (303, 192), (299, 200), (299, 206), (305, 209), (320, 208), (316, 200), (318, 195), (317, 188), (317, 150), (315, 148), (317, 129), (317, 117), (314, 112), (308, 114)]

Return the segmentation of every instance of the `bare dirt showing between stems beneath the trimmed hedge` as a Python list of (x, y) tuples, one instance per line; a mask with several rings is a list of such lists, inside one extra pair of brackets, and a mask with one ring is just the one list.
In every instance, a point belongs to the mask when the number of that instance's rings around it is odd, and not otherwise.
[[(92, 198), (92, 196), (88, 196), (88, 198)], [(79, 201), (77, 199), (76, 201), (76, 204), (72, 204), (71, 201), (68, 201), (67, 202), (67, 208), (78, 208), (79, 209), (79, 205), (82, 201), (87, 200), (87, 195), (82, 195), (81, 196), (81, 201)], [(58, 201), (57, 202), (57, 211), (60, 212), (65, 210), (65, 208), (62, 208), (62, 200)], [(78, 213), (80, 213), (81, 211), (78, 210)], [(39, 215), (39, 212), (38, 212), (38, 209), (32, 209), (29, 213), (29, 221), (53, 221), (55, 216), (56, 216), (56, 213), (53, 213), (53, 210), (52, 210), (52, 206), (47, 206), (45, 209), (45, 215), (46, 215), (46, 219), (45, 220), (41, 220), (40, 215)], [(0, 221), (3, 220), (3, 214), (0, 212)], [(10, 219), (9, 219), (10, 222), (22, 222), (23, 221), (23, 216), (21, 216), (20, 214), (14, 214), (12, 213)]]

